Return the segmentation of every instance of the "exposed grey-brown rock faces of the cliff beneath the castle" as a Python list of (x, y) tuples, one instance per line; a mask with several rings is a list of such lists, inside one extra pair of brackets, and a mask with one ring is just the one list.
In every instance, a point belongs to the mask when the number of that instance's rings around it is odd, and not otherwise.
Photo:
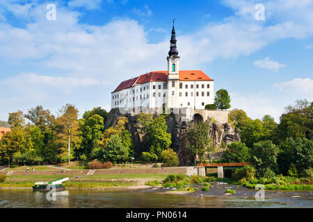
[[(141, 152), (147, 151), (145, 143), (143, 142), (143, 135), (141, 134), (141, 125), (136, 122), (136, 115), (121, 113), (118, 109), (112, 109), (109, 112), (108, 119), (105, 123), (105, 128), (115, 125), (118, 117), (127, 117), (129, 122), (127, 123), (127, 130), (131, 133), (136, 146), (136, 156), (139, 156)], [(154, 117), (157, 114), (153, 114)], [(240, 133), (237, 128), (234, 128), (231, 123), (219, 123), (218, 121), (212, 121), (208, 118), (204, 121), (209, 122), (209, 135), (214, 141), (216, 146), (216, 153), (213, 158), (220, 158), (223, 153), (222, 143), (225, 145), (231, 144), (232, 142), (240, 142)], [(180, 114), (169, 114), (166, 119), (168, 126), (168, 133), (172, 135), (171, 148), (177, 152), (179, 160), (182, 164), (190, 164), (186, 160), (186, 131), (193, 125), (193, 121), (182, 121)]]

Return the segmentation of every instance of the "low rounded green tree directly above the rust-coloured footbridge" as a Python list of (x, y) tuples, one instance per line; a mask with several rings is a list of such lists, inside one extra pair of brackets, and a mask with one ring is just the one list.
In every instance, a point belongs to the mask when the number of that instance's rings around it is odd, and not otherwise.
[(249, 148), (241, 142), (233, 142), (227, 145), (222, 158), (223, 162), (248, 162), (248, 160), (250, 160)]

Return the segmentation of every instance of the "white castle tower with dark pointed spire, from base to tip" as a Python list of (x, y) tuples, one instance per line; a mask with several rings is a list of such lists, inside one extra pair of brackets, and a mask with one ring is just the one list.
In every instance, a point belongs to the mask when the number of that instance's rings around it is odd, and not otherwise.
[(168, 108), (179, 108), (179, 56), (176, 46), (174, 19), (172, 21), (172, 37), (168, 51)]

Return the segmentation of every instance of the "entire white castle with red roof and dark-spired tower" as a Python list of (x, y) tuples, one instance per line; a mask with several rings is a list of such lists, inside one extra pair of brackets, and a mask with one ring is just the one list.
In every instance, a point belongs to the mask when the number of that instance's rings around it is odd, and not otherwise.
[(204, 110), (214, 103), (214, 80), (201, 70), (179, 70), (175, 27), (172, 27), (168, 70), (151, 71), (125, 80), (111, 93), (111, 108), (190, 108)]

